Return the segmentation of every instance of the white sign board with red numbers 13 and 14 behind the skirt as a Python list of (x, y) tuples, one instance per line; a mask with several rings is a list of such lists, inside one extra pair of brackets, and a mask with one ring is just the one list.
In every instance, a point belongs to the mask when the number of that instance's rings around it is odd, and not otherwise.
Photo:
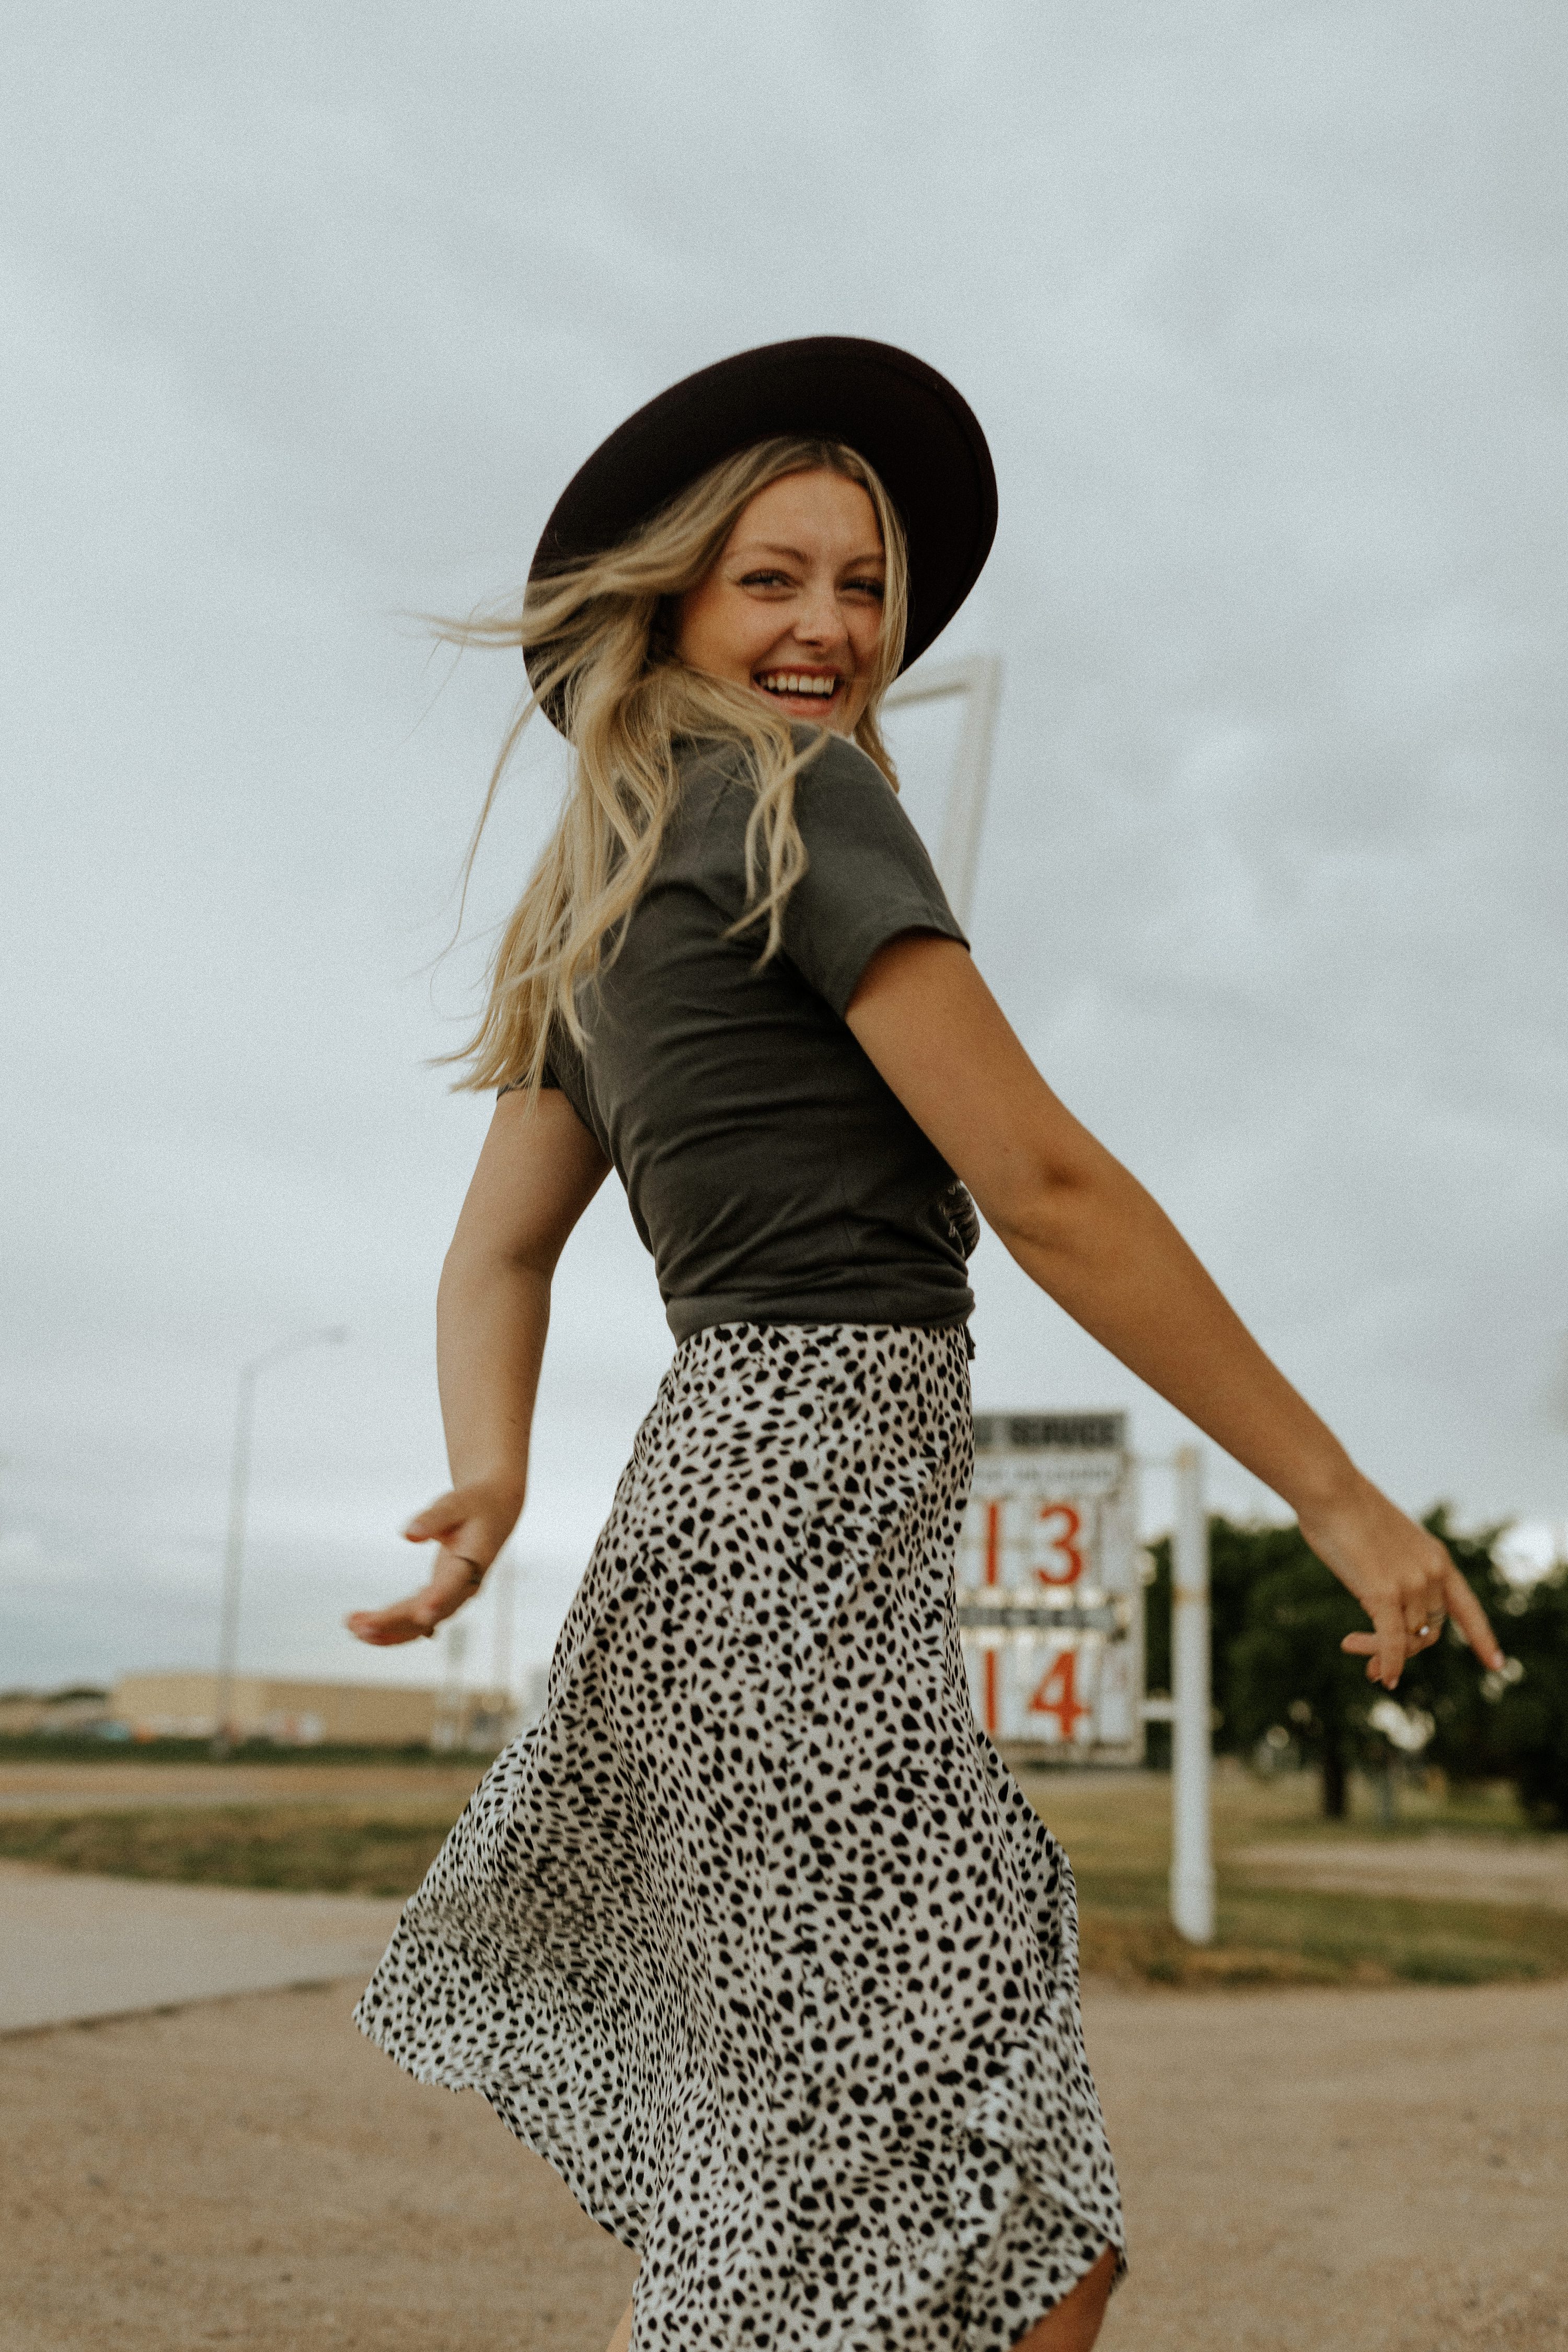
[(1063, 1764), (1143, 1762), (1143, 1548), (1126, 1414), (976, 1414), (957, 1559), (983, 1729)]

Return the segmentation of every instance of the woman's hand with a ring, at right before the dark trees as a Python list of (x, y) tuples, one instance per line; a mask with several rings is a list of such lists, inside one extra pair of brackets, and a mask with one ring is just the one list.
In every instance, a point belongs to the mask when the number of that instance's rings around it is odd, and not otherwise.
[(1408, 1519), (1371, 1479), (1359, 1479), (1342, 1503), (1302, 1512), (1300, 1531), (1373, 1621), (1371, 1632), (1347, 1632), (1340, 1642), (1352, 1658), (1366, 1658), (1368, 1682), (1392, 1691), (1406, 1658), (1441, 1639), (1446, 1618), (1453, 1618), (1483, 1665), (1502, 1665), (1486, 1609), (1446, 1545)]

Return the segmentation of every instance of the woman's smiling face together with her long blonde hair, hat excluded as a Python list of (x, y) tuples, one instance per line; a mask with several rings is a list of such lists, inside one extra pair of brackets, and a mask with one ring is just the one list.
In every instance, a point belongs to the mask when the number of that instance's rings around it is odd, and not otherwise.
[[(780, 543), (785, 541), (785, 543)], [(743, 746), (745, 861), (766, 884), (762, 953), (806, 868), (795, 779), (851, 736), (898, 790), (877, 724), (907, 621), (905, 532), (872, 466), (823, 435), (776, 433), (705, 468), (621, 543), (536, 562), (522, 612), (440, 623), (456, 644), (522, 647), (534, 684), (491, 774), (480, 830), (538, 706), (571, 739), (576, 790), (491, 964), (465, 1087), (536, 1087), (550, 1025), (581, 1044), (578, 990), (642, 898), (682, 800), (682, 750)], [(473, 849), (470, 849), (473, 858)]]

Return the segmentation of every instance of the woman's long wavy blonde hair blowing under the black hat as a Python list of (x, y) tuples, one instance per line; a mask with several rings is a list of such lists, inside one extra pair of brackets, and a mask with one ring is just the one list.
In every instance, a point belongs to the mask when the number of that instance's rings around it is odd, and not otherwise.
[(437, 621), (449, 644), (520, 647), (534, 691), (508, 727), (468, 844), (463, 884), (522, 729), (545, 706), (571, 741), (562, 814), (496, 943), (484, 1016), (442, 1061), (465, 1061), (458, 1087), (538, 1087), (550, 1025), (583, 1042), (581, 981), (614, 957), (642, 896), (679, 797), (677, 743), (738, 743), (755, 783), (745, 828), (748, 910), (736, 929), (766, 924), (762, 962), (778, 953), (785, 901), (806, 870), (795, 823), (795, 779), (825, 743), (797, 746), (790, 724), (750, 689), (689, 668), (675, 652), (675, 600), (719, 560), (741, 510), (788, 473), (858, 482), (877, 513), (886, 555), (882, 633), (856, 743), (898, 790), (877, 710), (903, 661), (905, 539), (893, 503), (853, 449), (780, 435), (724, 459), (639, 524), (630, 539), (529, 583), (522, 607)]

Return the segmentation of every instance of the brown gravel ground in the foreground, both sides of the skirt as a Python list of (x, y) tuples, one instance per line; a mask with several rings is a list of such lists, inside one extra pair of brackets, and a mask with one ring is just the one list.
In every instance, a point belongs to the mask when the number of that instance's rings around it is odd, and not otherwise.
[[(350, 1997), (0, 2044), (5, 2352), (599, 2352), (632, 2258)], [(1568, 1987), (1086, 2016), (1133, 2234), (1105, 2352), (1568, 2347)]]

